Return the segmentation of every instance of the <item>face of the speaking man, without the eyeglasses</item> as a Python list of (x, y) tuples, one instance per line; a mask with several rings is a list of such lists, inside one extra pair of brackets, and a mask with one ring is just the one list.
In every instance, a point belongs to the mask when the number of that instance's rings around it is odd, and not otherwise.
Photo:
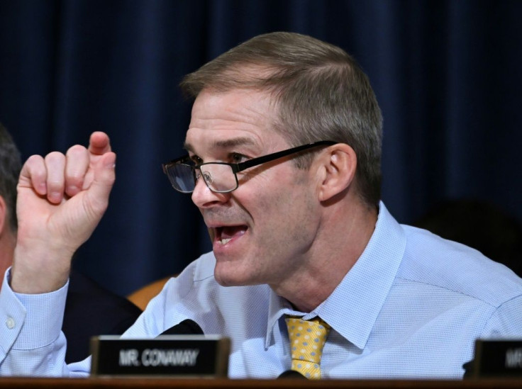
[[(189, 154), (200, 164), (285, 150), (291, 146), (272, 129), (275, 115), (266, 93), (202, 91), (187, 131)], [(312, 171), (277, 159), (238, 173), (231, 193), (213, 193), (199, 179), (192, 201), (209, 227), (219, 283), (277, 286), (309, 260), (320, 210)]]

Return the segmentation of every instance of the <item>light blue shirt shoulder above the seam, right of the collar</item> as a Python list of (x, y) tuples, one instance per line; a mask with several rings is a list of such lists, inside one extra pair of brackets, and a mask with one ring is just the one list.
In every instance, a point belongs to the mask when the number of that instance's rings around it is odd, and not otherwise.
[(522, 278), (476, 249), (427, 230), (402, 225), (406, 251), (399, 277), (498, 307), (522, 295)]

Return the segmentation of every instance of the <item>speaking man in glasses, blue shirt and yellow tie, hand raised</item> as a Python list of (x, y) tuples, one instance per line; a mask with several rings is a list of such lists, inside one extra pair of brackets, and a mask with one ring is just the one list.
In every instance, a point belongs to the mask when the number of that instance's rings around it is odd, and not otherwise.
[[(399, 225), (379, 202), (381, 114), (343, 50), (260, 35), (182, 87), (195, 97), (189, 154), (164, 169), (201, 210), (213, 254), (170, 280), (123, 337), (194, 320), (232, 338), (231, 378), (290, 368), (310, 378), (460, 378), (475, 339), (522, 336), (521, 278)], [(0, 329), (2, 373), (88, 372), (89, 361), (63, 365), (52, 319), (70, 256), (108, 205), (115, 161), (109, 137), (94, 133), (89, 149), (24, 165), (16, 258), (0, 296), (12, 307), (0, 317), (12, 320)], [(54, 316), (33, 319), (35, 302)]]

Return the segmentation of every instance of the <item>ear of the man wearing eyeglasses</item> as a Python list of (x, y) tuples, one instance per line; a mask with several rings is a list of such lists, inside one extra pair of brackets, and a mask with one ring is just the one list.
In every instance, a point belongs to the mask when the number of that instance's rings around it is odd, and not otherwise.
[(352, 184), (357, 168), (357, 154), (350, 145), (337, 143), (328, 147), (319, 161), (321, 163), (319, 200), (327, 201)]

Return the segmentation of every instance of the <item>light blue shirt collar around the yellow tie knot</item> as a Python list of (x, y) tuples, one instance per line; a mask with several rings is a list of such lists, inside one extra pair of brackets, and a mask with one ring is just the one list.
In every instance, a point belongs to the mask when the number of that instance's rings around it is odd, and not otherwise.
[[(341, 336), (363, 349), (394, 282), (405, 247), (401, 226), (384, 203), (379, 203), (377, 224), (365, 251), (333, 293), (304, 319), (320, 316)], [(286, 299), (270, 289), (266, 347), (270, 346), (274, 325), (282, 315), (302, 316), (303, 312), (296, 312)]]

